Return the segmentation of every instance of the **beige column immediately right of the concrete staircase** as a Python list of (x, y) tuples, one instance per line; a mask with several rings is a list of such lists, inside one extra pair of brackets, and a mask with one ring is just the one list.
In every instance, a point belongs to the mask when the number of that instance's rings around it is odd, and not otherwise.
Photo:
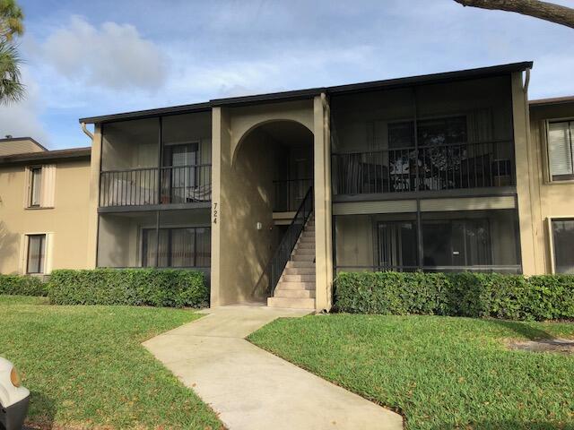
[(331, 144), (329, 107), (325, 93), (315, 97), (314, 184), (315, 194), (315, 268), (317, 312), (331, 308), (333, 291), (333, 236), (331, 204)]

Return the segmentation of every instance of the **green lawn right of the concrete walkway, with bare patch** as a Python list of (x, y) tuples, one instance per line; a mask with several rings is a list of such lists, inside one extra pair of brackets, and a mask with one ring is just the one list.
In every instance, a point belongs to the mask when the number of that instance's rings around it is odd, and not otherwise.
[(281, 319), (261, 348), (381, 405), (408, 429), (574, 428), (574, 356), (504, 340), (574, 338), (572, 323), (332, 314)]

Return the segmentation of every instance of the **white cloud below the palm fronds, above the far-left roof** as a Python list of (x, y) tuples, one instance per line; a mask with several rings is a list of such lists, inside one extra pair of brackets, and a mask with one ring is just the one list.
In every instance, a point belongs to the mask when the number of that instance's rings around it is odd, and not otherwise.
[(0, 105), (0, 137), (6, 134), (30, 136), (46, 146), (49, 144), (48, 133), (39, 121), (39, 113), (43, 109), (39, 86), (25, 67), (22, 67), (22, 82), (26, 85), (25, 99)]

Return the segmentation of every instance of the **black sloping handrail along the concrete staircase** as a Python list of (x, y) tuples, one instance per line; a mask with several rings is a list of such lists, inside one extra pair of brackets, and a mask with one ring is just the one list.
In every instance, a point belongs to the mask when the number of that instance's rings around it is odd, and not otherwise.
[[(291, 260), (293, 248), (299, 240), (299, 236), (305, 228), (309, 215), (313, 212), (313, 188), (305, 194), (297, 213), (293, 217), (289, 228), (285, 231), (281, 243), (277, 246), (273, 256), (265, 266), (261, 280), (267, 280), (267, 294), (271, 297), (274, 294), (277, 282), (281, 278), (287, 262)], [(256, 286), (257, 287), (257, 286)]]

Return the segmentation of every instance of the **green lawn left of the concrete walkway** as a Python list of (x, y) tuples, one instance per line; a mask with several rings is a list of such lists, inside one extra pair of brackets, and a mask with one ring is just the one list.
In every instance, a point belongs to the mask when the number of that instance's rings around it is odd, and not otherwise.
[(222, 426), (213, 410), (140, 344), (198, 318), (186, 310), (53, 306), (0, 296), (0, 356), (32, 393), (29, 421), (42, 428)]

